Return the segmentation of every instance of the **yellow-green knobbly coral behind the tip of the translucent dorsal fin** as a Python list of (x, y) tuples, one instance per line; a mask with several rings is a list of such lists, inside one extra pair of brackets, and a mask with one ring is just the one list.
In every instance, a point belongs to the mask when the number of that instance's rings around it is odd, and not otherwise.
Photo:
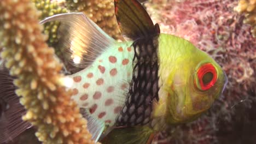
[[(45, 17), (49, 17), (56, 14), (67, 13), (66, 8), (60, 7), (57, 2), (53, 2), (50, 0), (42, 1), (42, 0), (32, 0), (36, 8), (41, 11), (42, 15), (39, 17), (40, 20), (44, 19)], [(44, 25), (44, 33), (48, 35), (48, 44), (53, 45), (55, 44), (57, 39), (57, 29), (60, 25), (60, 22), (53, 21), (45, 23)]]

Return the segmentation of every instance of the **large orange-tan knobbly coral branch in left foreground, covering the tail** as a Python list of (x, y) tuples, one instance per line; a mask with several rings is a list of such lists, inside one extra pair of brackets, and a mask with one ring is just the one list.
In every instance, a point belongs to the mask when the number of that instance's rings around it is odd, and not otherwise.
[(72, 92), (60, 86), (62, 65), (46, 45), (38, 18), (30, 0), (0, 1), (1, 56), (18, 77), (16, 94), (27, 109), (23, 119), (38, 128), (36, 136), (44, 143), (94, 143)]

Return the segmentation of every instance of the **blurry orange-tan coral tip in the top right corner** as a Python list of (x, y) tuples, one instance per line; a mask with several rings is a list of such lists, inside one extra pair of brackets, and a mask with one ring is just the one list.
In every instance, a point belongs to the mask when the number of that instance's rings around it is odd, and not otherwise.
[(238, 13), (245, 13), (245, 23), (252, 25), (253, 36), (256, 37), (256, 0), (240, 0), (234, 8)]

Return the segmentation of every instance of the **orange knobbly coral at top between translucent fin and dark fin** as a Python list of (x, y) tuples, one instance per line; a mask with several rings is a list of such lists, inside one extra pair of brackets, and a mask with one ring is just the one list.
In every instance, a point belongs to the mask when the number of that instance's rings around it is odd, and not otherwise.
[(114, 15), (113, 0), (66, 0), (67, 8), (71, 11), (84, 12), (103, 31), (115, 39), (121, 39), (121, 33)]

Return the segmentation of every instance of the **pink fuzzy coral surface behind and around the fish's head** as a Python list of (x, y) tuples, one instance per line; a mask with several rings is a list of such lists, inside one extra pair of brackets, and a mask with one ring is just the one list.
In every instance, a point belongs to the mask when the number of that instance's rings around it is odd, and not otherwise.
[(256, 39), (230, 0), (152, 0), (146, 3), (161, 32), (179, 35), (222, 65), (229, 83), (201, 119), (170, 128), (155, 143), (254, 143)]

